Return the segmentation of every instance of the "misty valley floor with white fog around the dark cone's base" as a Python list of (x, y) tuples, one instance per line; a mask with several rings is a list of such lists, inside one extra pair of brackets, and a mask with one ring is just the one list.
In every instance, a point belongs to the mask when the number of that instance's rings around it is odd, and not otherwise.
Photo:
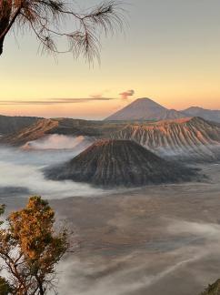
[(203, 167), (205, 183), (109, 195), (46, 180), (42, 168), (79, 152), (75, 138), (68, 141), (70, 149), (62, 144), (70, 138), (47, 139), (32, 142), (32, 148), (0, 148), (0, 203), (14, 209), (23, 197), (42, 195), (57, 219), (74, 229), (80, 247), (59, 264), (59, 294), (198, 295), (220, 277), (219, 165)]

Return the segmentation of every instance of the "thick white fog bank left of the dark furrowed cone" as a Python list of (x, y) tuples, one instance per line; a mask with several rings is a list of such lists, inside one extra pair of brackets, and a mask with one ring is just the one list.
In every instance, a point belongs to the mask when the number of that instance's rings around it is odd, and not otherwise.
[[(67, 143), (68, 149), (61, 149)], [(55, 149), (51, 149), (52, 144), (56, 144)], [(88, 141), (84, 143), (82, 138), (56, 136), (32, 142), (31, 146), (34, 148), (0, 148), (0, 198), (9, 195), (27, 197), (30, 194), (66, 198), (103, 193), (103, 190), (85, 184), (47, 180), (42, 172), (46, 166), (74, 158), (88, 146)]]

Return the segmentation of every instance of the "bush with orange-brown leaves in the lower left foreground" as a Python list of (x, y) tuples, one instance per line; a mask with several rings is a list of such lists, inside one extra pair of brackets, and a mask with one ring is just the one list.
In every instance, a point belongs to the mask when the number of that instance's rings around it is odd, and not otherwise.
[[(0, 214), (4, 207), (0, 207)], [(55, 232), (55, 211), (40, 197), (10, 214), (0, 229), (0, 294), (55, 291), (57, 263), (69, 247), (66, 229)]]

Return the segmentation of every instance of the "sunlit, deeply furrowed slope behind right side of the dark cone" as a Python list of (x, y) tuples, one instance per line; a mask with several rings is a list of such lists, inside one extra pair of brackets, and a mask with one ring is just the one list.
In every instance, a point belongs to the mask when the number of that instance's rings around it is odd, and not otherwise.
[(135, 140), (165, 158), (196, 161), (220, 158), (220, 125), (200, 117), (129, 124), (111, 137)]

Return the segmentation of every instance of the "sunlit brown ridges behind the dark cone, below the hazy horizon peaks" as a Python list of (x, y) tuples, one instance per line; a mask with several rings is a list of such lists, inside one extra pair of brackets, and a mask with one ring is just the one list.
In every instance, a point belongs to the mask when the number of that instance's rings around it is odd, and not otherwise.
[[(72, 137), (76, 142), (84, 137), (85, 147), (100, 138), (134, 140), (159, 157), (183, 161), (204, 162), (220, 158), (220, 124), (201, 117), (156, 122), (38, 119), (31, 126), (1, 137), (0, 144), (35, 148), (44, 146), (54, 138), (52, 135)], [(60, 138), (57, 137), (57, 140)], [(64, 140), (68, 142), (65, 137)], [(51, 144), (49, 147), (52, 148)]]

